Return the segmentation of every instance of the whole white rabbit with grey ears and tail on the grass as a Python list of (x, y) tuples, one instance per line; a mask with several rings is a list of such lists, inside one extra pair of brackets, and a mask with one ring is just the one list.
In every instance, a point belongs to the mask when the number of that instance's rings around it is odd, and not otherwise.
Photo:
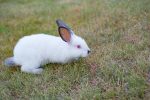
[(24, 36), (16, 44), (13, 57), (5, 60), (6, 66), (20, 65), (22, 72), (40, 74), (42, 65), (67, 63), (90, 53), (84, 39), (61, 20), (56, 21), (60, 37), (35, 34)]

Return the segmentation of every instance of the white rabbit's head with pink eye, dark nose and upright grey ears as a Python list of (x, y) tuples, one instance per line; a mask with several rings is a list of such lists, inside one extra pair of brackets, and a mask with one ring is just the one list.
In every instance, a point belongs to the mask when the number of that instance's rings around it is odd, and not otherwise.
[(68, 45), (73, 49), (78, 57), (86, 57), (90, 53), (90, 48), (88, 47), (85, 40), (77, 35), (61, 20), (56, 21), (58, 25), (59, 35), (63, 41), (67, 42)]

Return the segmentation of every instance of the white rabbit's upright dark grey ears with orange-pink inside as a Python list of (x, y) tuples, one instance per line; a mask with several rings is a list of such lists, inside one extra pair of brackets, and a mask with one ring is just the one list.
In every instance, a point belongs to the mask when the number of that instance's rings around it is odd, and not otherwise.
[(70, 42), (72, 30), (61, 20), (56, 20), (59, 35), (65, 42)]

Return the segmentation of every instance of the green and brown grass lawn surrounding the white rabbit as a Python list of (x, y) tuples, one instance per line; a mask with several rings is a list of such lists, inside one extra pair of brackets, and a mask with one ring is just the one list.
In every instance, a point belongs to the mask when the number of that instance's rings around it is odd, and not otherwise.
[[(63, 19), (92, 53), (48, 64), (41, 75), (8, 69), (21, 37), (58, 35)], [(0, 99), (150, 99), (149, 0), (0, 0)]]

